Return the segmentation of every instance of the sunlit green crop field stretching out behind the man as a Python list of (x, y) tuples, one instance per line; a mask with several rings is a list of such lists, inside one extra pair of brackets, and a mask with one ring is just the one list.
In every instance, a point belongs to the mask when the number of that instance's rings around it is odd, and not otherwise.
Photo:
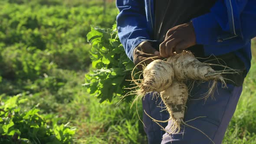
[[(101, 98), (115, 98), (99, 103), (102, 99), (89, 94), (99, 87), (82, 86), (91, 66), (109, 64), (105, 58), (102, 64), (91, 62), (86, 37), (91, 26), (110, 28), (111, 42), (99, 44), (120, 48), (112, 33), (118, 10), (114, 0), (106, 2), (0, 0), (0, 144), (147, 143), (136, 107), (130, 109), (128, 102), (116, 105), (120, 95), (107, 91), (109, 87)], [(255, 62), (223, 144), (256, 144)], [(132, 68), (129, 62), (116, 66)], [(109, 76), (106, 73), (103, 76)], [(112, 88), (119, 90), (119, 84)], [(142, 111), (139, 103), (140, 117)]]

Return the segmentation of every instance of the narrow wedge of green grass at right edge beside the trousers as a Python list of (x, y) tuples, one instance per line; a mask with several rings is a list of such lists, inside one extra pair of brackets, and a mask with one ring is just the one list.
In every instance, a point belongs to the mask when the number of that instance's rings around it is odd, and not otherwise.
[(256, 144), (256, 42), (252, 42), (253, 60), (243, 84), (243, 92), (226, 131), (223, 144)]

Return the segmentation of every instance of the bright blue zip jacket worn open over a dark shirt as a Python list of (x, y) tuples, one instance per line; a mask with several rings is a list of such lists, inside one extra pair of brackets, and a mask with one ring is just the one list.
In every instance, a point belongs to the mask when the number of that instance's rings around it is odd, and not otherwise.
[[(142, 41), (152, 41), (154, 32), (153, 0), (117, 0), (118, 36), (127, 56)], [(205, 56), (234, 52), (251, 66), (251, 39), (256, 36), (256, 0), (217, 0), (210, 13), (192, 19), (197, 44)]]

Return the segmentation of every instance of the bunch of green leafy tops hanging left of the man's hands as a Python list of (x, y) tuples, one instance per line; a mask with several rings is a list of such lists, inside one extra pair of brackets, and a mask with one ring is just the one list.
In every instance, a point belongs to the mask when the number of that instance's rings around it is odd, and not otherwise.
[[(129, 92), (133, 62), (126, 56), (119, 41), (116, 25), (112, 29), (91, 27), (87, 40), (92, 45), (90, 51), (92, 70), (85, 75), (85, 87), (90, 95), (96, 95), (100, 102), (112, 101), (115, 96)], [(131, 97), (125, 98), (130, 101)]]

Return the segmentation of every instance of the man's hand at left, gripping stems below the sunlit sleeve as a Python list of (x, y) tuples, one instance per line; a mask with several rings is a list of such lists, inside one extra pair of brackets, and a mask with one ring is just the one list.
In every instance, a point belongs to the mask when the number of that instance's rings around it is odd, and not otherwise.
[[(133, 51), (133, 62), (135, 65), (140, 63), (141, 61), (145, 60), (141, 64), (148, 65), (153, 59), (148, 59), (149, 57), (158, 56), (160, 58), (160, 52), (154, 49), (150, 42), (144, 41), (141, 42)], [(156, 58), (156, 59), (158, 59)], [(139, 70), (142, 70), (142, 65), (137, 66)]]

